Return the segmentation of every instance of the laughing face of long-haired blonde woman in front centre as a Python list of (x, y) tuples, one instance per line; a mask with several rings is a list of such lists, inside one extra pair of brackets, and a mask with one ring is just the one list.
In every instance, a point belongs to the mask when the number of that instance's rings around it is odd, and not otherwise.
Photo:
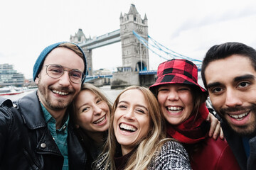
[(149, 133), (148, 103), (138, 89), (125, 91), (114, 112), (114, 135), (121, 145), (122, 154), (127, 154)]

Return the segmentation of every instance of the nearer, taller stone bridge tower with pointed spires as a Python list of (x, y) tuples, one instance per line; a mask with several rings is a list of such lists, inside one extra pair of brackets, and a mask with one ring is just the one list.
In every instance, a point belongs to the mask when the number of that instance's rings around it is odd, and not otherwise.
[(134, 30), (142, 38), (148, 40), (148, 20), (138, 13), (131, 4), (128, 13), (120, 15), (120, 38), (122, 44), (122, 71), (139, 72), (149, 69), (149, 50), (132, 33)]

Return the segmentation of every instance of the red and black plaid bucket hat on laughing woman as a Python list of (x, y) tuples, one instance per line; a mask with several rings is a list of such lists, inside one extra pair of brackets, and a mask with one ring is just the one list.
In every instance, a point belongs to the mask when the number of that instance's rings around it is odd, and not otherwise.
[(206, 89), (198, 84), (198, 68), (189, 60), (173, 59), (159, 64), (156, 82), (149, 87), (153, 91), (163, 84), (188, 84), (198, 87), (208, 96)]

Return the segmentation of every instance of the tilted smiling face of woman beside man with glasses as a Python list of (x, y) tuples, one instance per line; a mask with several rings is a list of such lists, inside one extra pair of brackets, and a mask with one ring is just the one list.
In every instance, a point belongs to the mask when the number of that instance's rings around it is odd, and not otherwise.
[(110, 126), (110, 108), (90, 90), (82, 90), (75, 99), (77, 124), (87, 132), (105, 132)]

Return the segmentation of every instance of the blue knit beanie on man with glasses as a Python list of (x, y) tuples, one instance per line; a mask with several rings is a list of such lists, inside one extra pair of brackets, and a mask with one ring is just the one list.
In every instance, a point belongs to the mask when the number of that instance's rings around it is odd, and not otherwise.
[[(42, 52), (41, 54), (39, 55), (38, 59), (36, 60), (36, 63), (34, 64), (34, 67), (33, 67), (33, 81), (36, 80), (36, 77), (38, 76), (39, 72), (41, 72), (41, 69), (42, 69), (42, 66), (43, 66), (43, 62), (44, 60), (46, 59), (47, 55), (53, 50), (55, 49), (56, 47), (58, 47), (58, 45), (60, 44), (63, 44), (63, 43), (70, 43), (70, 44), (73, 44), (73, 45), (76, 45), (75, 43), (73, 42), (57, 42), (53, 45), (49, 45), (48, 47), (46, 47)], [(83, 56), (83, 59), (84, 59), (84, 62), (85, 62), (85, 70), (84, 70), (84, 74), (86, 76), (86, 71), (87, 71), (87, 60), (86, 60), (86, 57), (85, 57), (85, 53), (82, 51), (82, 49), (76, 45), (78, 47), (78, 49), (82, 52), (82, 56)], [(85, 81), (85, 79), (82, 81), (82, 83)]]

